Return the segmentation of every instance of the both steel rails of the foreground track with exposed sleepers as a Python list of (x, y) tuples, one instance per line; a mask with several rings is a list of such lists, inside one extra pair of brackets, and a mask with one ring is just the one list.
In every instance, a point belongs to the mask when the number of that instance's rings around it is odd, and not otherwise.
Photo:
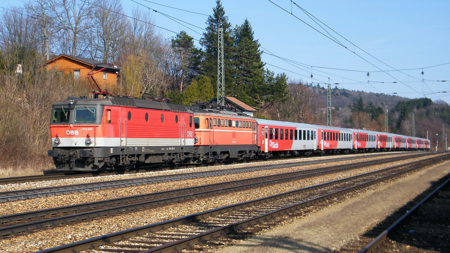
[[(211, 229), (209, 231), (198, 233), (196, 235), (189, 236), (188, 238), (183, 238), (183, 239), (177, 240), (175, 242), (164, 243), (161, 246), (155, 246), (153, 249), (140, 251), (141, 253), (174, 252), (176, 250), (185, 249), (186, 247), (189, 247), (189, 245), (198, 244), (200, 242), (211, 240), (211, 239), (214, 239), (214, 238), (217, 238), (217, 237), (220, 237), (220, 236), (223, 236), (223, 235), (235, 232), (235, 231), (243, 230), (243, 229), (245, 229), (249, 226), (253, 226), (255, 224), (264, 224), (264, 223), (270, 222), (270, 220), (272, 220), (276, 216), (279, 216), (282, 214), (296, 213), (297, 211), (300, 211), (302, 208), (304, 208), (306, 206), (320, 203), (320, 202), (323, 202), (324, 200), (332, 199), (337, 195), (344, 195), (351, 191), (363, 189), (363, 188), (366, 188), (367, 186), (376, 184), (378, 182), (382, 182), (382, 181), (385, 181), (385, 180), (388, 180), (391, 178), (399, 177), (400, 175), (412, 172), (416, 169), (423, 168), (429, 164), (440, 162), (441, 159), (444, 159), (444, 158), (448, 159), (448, 155), (444, 155), (444, 156), (435, 157), (435, 158), (432, 158), (429, 160), (421, 160), (419, 162), (413, 162), (413, 163), (409, 163), (409, 164), (402, 164), (402, 165), (398, 165), (398, 166), (394, 166), (394, 167), (390, 167), (390, 168), (386, 168), (386, 169), (377, 170), (374, 172), (364, 173), (364, 174), (360, 174), (360, 175), (349, 177), (349, 178), (344, 178), (344, 179), (335, 180), (332, 182), (323, 183), (320, 185), (315, 185), (315, 186), (310, 186), (310, 187), (306, 187), (306, 188), (302, 188), (302, 189), (288, 191), (285, 193), (280, 193), (277, 195), (272, 195), (272, 196), (260, 198), (257, 200), (250, 200), (250, 201), (246, 201), (243, 203), (232, 204), (232, 205), (228, 205), (225, 207), (220, 207), (220, 208), (204, 211), (201, 213), (196, 213), (196, 214), (192, 214), (192, 215), (188, 215), (188, 216), (184, 216), (184, 217), (180, 217), (180, 218), (175, 218), (175, 219), (164, 221), (164, 222), (158, 222), (158, 223), (154, 223), (154, 224), (150, 224), (150, 225), (146, 225), (146, 226), (128, 229), (125, 231), (115, 232), (115, 233), (112, 233), (109, 235), (102, 235), (102, 236), (90, 238), (87, 240), (74, 242), (71, 244), (61, 245), (61, 246), (54, 247), (51, 249), (41, 250), (37, 253), (73, 253), (73, 252), (79, 252), (79, 251), (85, 250), (85, 249), (94, 249), (95, 247), (98, 247), (101, 245), (111, 244), (112, 242), (126, 240), (129, 238), (144, 235), (144, 234), (147, 234), (150, 232), (160, 231), (165, 228), (184, 225), (189, 222), (201, 222), (202, 220), (204, 220), (207, 217), (213, 217), (218, 214), (224, 215), (227, 212), (231, 212), (231, 211), (238, 210), (238, 209), (243, 209), (246, 207), (253, 207), (253, 206), (256, 206), (257, 204), (270, 203), (270, 202), (273, 202), (274, 200), (281, 200), (281, 199), (284, 199), (284, 198), (287, 198), (290, 196), (295, 196), (295, 195), (298, 195), (299, 193), (302, 193), (305, 191), (308, 191), (308, 192), (317, 191), (320, 188), (324, 188), (324, 186), (332, 186), (332, 185), (336, 185), (338, 183), (349, 182), (353, 179), (362, 179), (364, 177), (369, 177), (368, 181), (366, 181), (366, 182), (362, 182), (362, 183), (358, 182), (356, 185), (352, 185), (352, 186), (349, 186), (349, 187), (346, 187), (343, 189), (339, 189), (338, 191), (328, 192), (324, 195), (313, 197), (309, 200), (301, 201), (301, 202), (298, 202), (295, 204), (290, 204), (288, 206), (284, 206), (279, 209), (265, 212), (260, 215), (255, 215), (254, 217), (250, 217), (245, 220), (241, 220), (238, 222), (234, 222), (232, 224), (227, 224), (225, 226), (220, 226), (220, 227)], [(382, 172), (386, 173), (386, 172), (389, 172), (389, 170), (396, 170), (396, 169), (400, 170), (401, 168), (407, 168), (407, 169), (404, 169), (399, 172), (391, 173), (387, 176), (381, 176), (381, 177), (378, 177), (375, 179), (372, 179), (372, 177), (371, 177), (371, 176), (375, 175), (376, 173), (382, 173)], [(345, 186), (345, 184), (344, 184), (344, 186)], [(157, 243), (157, 242), (151, 242), (151, 243), (152, 244), (161, 244), (161, 243)], [(148, 247), (151, 247), (151, 246), (148, 246)], [(101, 250), (101, 249), (98, 249), (98, 250)]]

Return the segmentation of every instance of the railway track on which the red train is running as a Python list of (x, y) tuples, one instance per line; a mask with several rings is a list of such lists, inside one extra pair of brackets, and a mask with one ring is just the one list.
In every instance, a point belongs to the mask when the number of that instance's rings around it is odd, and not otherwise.
[[(396, 153), (385, 153), (378, 154), (378, 156), (384, 155), (393, 155)], [(375, 155), (364, 155), (365, 157), (373, 157)], [(289, 158), (292, 159), (292, 158)], [(355, 159), (355, 158), (354, 158)], [(285, 159), (283, 159), (285, 160)], [(330, 159), (330, 160), (333, 160)], [(257, 160), (255, 160), (257, 161)], [(178, 167), (167, 167), (168, 169), (182, 169), (182, 168), (195, 168), (198, 165), (183, 165)], [(76, 173), (76, 172), (66, 172), (66, 173), (52, 173), (52, 174), (44, 174), (44, 175), (32, 175), (32, 176), (23, 176), (23, 177), (9, 177), (9, 178), (0, 178), (0, 185), (5, 184), (15, 184), (15, 183), (24, 183), (24, 182), (39, 182), (39, 181), (47, 181), (47, 180), (58, 180), (58, 179), (70, 179), (70, 178), (85, 178), (85, 177), (98, 177), (98, 176), (108, 176), (108, 175), (118, 175), (118, 174), (130, 174), (130, 173), (142, 173), (149, 171), (157, 171), (155, 167), (142, 167), (139, 169), (132, 169), (129, 171), (125, 170), (113, 170), (110, 172), (101, 172), (101, 171), (92, 171), (86, 173)]]

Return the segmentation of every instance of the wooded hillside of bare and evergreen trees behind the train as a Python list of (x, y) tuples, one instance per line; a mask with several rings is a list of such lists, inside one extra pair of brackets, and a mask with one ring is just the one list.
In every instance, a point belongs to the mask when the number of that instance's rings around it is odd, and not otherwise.
[[(140, 97), (166, 96), (184, 105), (216, 95), (217, 29), (224, 29), (225, 93), (258, 109), (257, 117), (326, 124), (326, 93), (320, 86), (289, 80), (261, 61), (251, 20), (231, 24), (220, 1), (205, 19), (198, 43), (186, 31), (166, 38), (151, 12), (124, 13), (113, 0), (30, 0), (0, 13), (0, 166), (38, 162), (51, 167), (49, 115), (53, 102), (89, 96), (87, 78), (47, 69), (59, 54), (84, 57), (121, 68), (110, 92)], [(20, 71), (18, 67), (20, 66)], [(376, 129), (390, 108), (390, 131), (442, 133), (450, 125), (446, 103), (334, 90), (333, 124)], [(324, 95), (325, 94), (325, 95)], [(387, 101), (388, 99), (388, 101)], [(380, 114), (381, 108), (381, 114)]]

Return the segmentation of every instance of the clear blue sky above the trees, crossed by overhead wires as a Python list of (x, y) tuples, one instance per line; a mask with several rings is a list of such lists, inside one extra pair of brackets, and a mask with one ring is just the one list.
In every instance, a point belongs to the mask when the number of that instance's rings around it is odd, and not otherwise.
[[(426, 96), (433, 101), (442, 99), (450, 103), (450, 93), (443, 93), (450, 91), (450, 64), (446, 64), (450, 63), (450, 1), (271, 1), (273, 3), (269, 0), (222, 1), (232, 26), (242, 24), (245, 18), (250, 21), (255, 38), (264, 48), (261, 50), (267, 52), (262, 55), (262, 60), (271, 71), (285, 72), (291, 80), (312, 81), (321, 86), (330, 80), (333, 86), (339, 88), (398, 93), (408, 98)], [(207, 16), (158, 4), (207, 15), (212, 14), (216, 5), (215, 0), (120, 2), (127, 13), (132, 8), (150, 11), (157, 26), (175, 32), (184, 30), (194, 39), (202, 37), (204, 30), (197, 27), (206, 27)], [(294, 2), (343, 36), (345, 39), (327, 30), (347, 49), (322, 35), (319, 31), (330, 36)], [(0, 0), (0, 6), (10, 5)], [(151, 9), (197, 27), (185, 24), (190, 30)], [(167, 38), (175, 36), (175, 33), (164, 30), (162, 34)], [(283, 61), (269, 52), (288, 60)], [(300, 62), (302, 65), (287, 61)], [(431, 67), (436, 65), (441, 66)], [(422, 68), (424, 75), (421, 74)], [(387, 72), (381, 72), (380, 69)], [(400, 72), (394, 69), (415, 70)], [(314, 76), (312, 80), (311, 73)]]

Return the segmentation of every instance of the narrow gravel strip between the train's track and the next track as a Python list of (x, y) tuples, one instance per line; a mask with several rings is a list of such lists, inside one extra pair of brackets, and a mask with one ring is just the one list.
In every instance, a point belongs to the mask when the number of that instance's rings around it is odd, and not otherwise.
[[(390, 154), (392, 156), (399, 156), (404, 154), (409, 154), (411, 152), (380, 152), (379, 154)], [(120, 180), (120, 179), (128, 179), (128, 178), (144, 178), (144, 177), (153, 177), (160, 175), (170, 175), (176, 173), (191, 173), (191, 172), (200, 172), (200, 171), (208, 171), (208, 170), (217, 170), (217, 169), (231, 169), (231, 168), (239, 168), (239, 167), (250, 167), (257, 165), (266, 165), (266, 164), (283, 164), (289, 162), (302, 162), (302, 161), (311, 161), (311, 160), (325, 160), (332, 158), (342, 158), (342, 157), (360, 157), (366, 155), (373, 155), (374, 153), (364, 153), (364, 154), (352, 154), (352, 155), (333, 155), (333, 156), (322, 156), (322, 157), (310, 157), (310, 158), (295, 158), (290, 160), (268, 160), (268, 161), (255, 161), (248, 163), (239, 163), (239, 164), (220, 164), (215, 166), (204, 166), (197, 168), (189, 168), (189, 169), (171, 169), (164, 171), (150, 171), (143, 173), (129, 173), (129, 174), (118, 174), (118, 175), (108, 175), (108, 176), (96, 176), (96, 177), (85, 177), (85, 178), (69, 178), (69, 179), (59, 179), (59, 180), (47, 180), (47, 181), (39, 181), (39, 182), (24, 182), (24, 183), (16, 183), (16, 184), (5, 184), (0, 185), (0, 191), (16, 191), (23, 189), (34, 189), (40, 187), (51, 187), (51, 186), (65, 186), (72, 184), (81, 184), (81, 183), (92, 183), (92, 182), (103, 182), (109, 180)]]

